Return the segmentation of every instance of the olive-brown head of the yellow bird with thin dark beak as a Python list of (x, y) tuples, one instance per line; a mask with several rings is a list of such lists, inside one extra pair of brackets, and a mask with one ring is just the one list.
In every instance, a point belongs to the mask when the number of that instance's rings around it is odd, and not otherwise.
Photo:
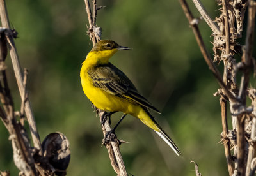
[(108, 59), (118, 50), (130, 50), (131, 48), (122, 47), (112, 40), (100, 40), (92, 48), (90, 52), (100, 55), (100, 59), (108, 61)]

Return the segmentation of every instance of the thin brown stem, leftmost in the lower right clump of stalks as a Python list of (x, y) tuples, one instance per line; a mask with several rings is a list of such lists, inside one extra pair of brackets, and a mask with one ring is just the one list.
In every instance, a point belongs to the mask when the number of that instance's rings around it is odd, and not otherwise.
[(228, 134), (227, 101), (222, 97), (220, 98), (220, 105), (221, 105), (221, 119), (222, 119), (223, 144), (225, 149), (225, 156), (228, 164), (228, 173), (230, 176), (232, 176), (234, 171), (234, 163), (232, 161), (232, 156), (230, 151), (230, 142), (229, 142), (229, 139), (227, 138), (227, 134)]

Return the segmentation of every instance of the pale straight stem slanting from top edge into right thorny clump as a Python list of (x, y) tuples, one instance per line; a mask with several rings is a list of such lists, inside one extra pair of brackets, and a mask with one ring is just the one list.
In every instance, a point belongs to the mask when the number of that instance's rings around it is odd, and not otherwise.
[(209, 15), (207, 14), (207, 12), (205, 11), (204, 6), (202, 5), (202, 3), (200, 2), (200, 0), (193, 0), (193, 3), (195, 4), (197, 10), (199, 11), (199, 13), (202, 15), (202, 17), (204, 18), (205, 22), (207, 22), (207, 24), (209, 25), (209, 27), (211, 27), (213, 33), (215, 34), (220, 34), (220, 29), (219, 27), (212, 21), (211, 17), (209, 17)]

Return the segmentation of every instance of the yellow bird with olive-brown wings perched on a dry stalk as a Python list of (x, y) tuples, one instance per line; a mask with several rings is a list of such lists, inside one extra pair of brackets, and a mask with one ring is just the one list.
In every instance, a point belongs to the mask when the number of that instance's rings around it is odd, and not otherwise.
[(159, 110), (138, 92), (125, 73), (109, 62), (117, 51), (130, 49), (112, 40), (98, 41), (82, 63), (80, 77), (84, 94), (100, 110), (123, 112), (123, 116), (130, 114), (137, 117), (156, 131), (178, 156), (182, 155), (149, 112), (153, 110), (160, 113)]

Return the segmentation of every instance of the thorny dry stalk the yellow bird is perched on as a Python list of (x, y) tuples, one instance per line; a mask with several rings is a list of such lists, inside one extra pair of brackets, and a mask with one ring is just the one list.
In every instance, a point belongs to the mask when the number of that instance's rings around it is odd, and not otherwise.
[[(84, 2), (86, 6), (87, 15), (88, 15), (88, 22), (90, 25), (90, 27), (88, 28), (88, 34), (94, 46), (97, 43), (97, 41), (100, 40), (100, 34), (98, 34), (95, 30), (93, 30), (96, 28), (97, 1), (93, 0), (93, 16), (92, 16), (89, 1), (84, 0)], [(98, 109), (97, 112), (99, 113), (100, 124), (102, 124), (101, 120), (102, 120), (102, 116), (104, 115), (104, 111)], [(104, 122), (104, 124), (102, 125), (103, 135), (105, 136), (108, 131), (111, 131), (111, 127), (109, 125), (108, 120), (106, 120), (106, 122)], [(116, 174), (121, 176), (127, 176), (127, 172), (125, 170), (124, 161), (122, 159), (119, 145), (120, 145), (120, 142), (118, 142), (117, 138), (116, 140), (111, 140), (110, 143), (105, 144), (106, 148), (108, 149), (111, 165), (115, 170)]]

